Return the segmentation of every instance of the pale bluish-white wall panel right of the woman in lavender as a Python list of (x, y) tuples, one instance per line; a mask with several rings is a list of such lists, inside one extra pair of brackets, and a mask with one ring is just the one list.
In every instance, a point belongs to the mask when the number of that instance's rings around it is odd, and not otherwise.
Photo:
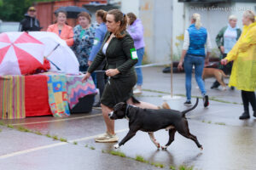
[(147, 61), (169, 60), (172, 51), (172, 1), (141, 0), (139, 5)]

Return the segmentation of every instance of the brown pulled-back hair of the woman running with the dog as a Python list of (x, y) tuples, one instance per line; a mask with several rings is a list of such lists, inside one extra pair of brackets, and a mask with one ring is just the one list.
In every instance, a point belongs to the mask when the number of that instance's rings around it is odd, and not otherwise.
[(121, 32), (126, 30), (126, 26), (127, 26), (126, 15), (123, 14), (119, 9), (112, 9), (108, 11), (108, 14), (113, 14), (113, 20), (115, 22), (120, 21), (119, 29), (116, 32), (114, 32), (115, 37), (117, 38), (125, 37), (125, 34), (121, 34)]

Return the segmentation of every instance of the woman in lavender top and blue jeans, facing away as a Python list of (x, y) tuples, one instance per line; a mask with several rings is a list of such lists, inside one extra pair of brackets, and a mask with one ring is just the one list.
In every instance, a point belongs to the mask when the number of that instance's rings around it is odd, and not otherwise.
[[(137, 50), (137, 57), (138, 61), (136, 66), (141, 66), (143, 62), (143, 55), (144, 55), (144, 47), (145, 43), (143, 40), (143, 24), (142, 21), (137, 19), (137, 16), (133, 13), (128, 13), (128, 29), (127, 31), (131, 35), (134, 46)], [(142, 86), (143, 86), (143, 70), (142, 68), (136, 68), (137, 73), (137, 86), (136, 89), (133, 91), (133, 94), (142, 94)]]

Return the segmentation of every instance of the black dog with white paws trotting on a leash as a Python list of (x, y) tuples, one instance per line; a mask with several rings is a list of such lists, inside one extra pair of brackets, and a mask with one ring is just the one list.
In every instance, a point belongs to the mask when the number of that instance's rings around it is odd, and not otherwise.
[(185, 138), (192, 139), (197, 147), (202, 150), (202, 145), (198, 142), (196, 136), (189, 133), (189, 124), (185, 117), (185, 114), (194, 110), (197, 104), (198, 98), (192, 108), (186, 111), (175, 111), (169, 109), (141, 109), (134, 105), (128, 105), (125, 102), (118, 103), (113, 107), (113, 111), (109, 113), (108, 116), (113, 120), (122, 118), (128, 119), (130, 130), (119, 144), (114, 145), (114, 148), (119, 148), (122, 144), (125, 144), (125, 142), (135, 136), (138, 130), (141, 130), (149, 134), (150, 139), (159, 149), (160, 144), (154, 138), (154, 132), (165, 128), (166, 131), (169, 131), (169, 141), (165, 146), (161, 147), (162, 150), (166, 150), (167, 147), (172, 144), (176, 131)]

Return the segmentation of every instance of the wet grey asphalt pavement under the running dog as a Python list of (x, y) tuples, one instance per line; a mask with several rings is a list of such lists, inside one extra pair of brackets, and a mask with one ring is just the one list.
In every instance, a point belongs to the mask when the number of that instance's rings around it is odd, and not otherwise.
[[(162, 68), (143, 68), (144, 84), (142, 95), (138, 99), (161, 105), (162, 96), (170, 93), (170, 74), (161, 73)], [(21, 120), (1, 120), (12, 126), (0, 129), (0, 169), (5, 170), (104, 170), (104, 169), (170, 169), (170, 166), (193, 166), (204, 170), (241, 170), (256, 169), (256, 119), (240, 121), (242, 112), (241, 92), (210, 89), (214, 79), (206, 80), (210, 106), (204, 108), (202, 100), (194, 111), (187, 114), (190, 133), (195, 134), (204, 150), (199, 150), (190, 139), (176, 133), (175, 140), (167, 150), (157, 150), (150, 141), (148, 133), (138, 132), (118, 150), (113, 144), (95, 143), (94, 138), (105, 132), (101, 111), (73, 114), (55, 118), (53, 116), (28, 117)], [(183, 96), (184, 74), (174, 74), (173, 92)], [(225, 80), (228, 82), (228, 79)], [(193, 79), (192, 95), (201, 96)], [(172, 109), (183, 111), (185, 98), (169, 102)], [(195, 103), (195, 98), (192, 100)], [(14, 127), (14, 128), (12, 128)], [(34, 133), (20, 132), (24, 127)], [(128, 132), (128, 122), (115, 122), (119, 140)], [(43, 134), (43, 135), (41, 135)], [(47, 137), (55, 136), (58, 140)], [(154, 133), (161, 145), (166, 144), (168, 133), (160, 130)], [(61, 140), (67, 139), (67, 142)], [(113, 156), (109, 151), (119, 151), (125, 157)], [(142, 156), (145, 161), (136, 161)], [(165, 167), (155, 167), (159, 163)]]

